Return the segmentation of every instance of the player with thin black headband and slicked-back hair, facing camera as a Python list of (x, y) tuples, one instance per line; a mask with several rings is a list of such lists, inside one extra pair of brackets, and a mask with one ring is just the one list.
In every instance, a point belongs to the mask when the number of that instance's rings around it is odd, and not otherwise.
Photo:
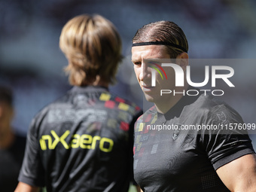
[[(169, 21), (142, 26), (133, 37), (136, 78), (145, 99), (154, 103), (136, 122), (136, 182), (147, 192), (256, 191), (256, 158), (245, 131), (181, 129), (184, 125), (243, 123), (242, 117), (209, 94), (160, 94), (161, 90), (195, 90), (186, 79), (184, 86), (176, 87), (172, 67), (163, 67), (167, 76), (163, 79), (152, 71), (161, 61), (172, 59), (184, 72), (187, 50), (184, 32)], [(150, 129), (154, 125), (179, 129)]]

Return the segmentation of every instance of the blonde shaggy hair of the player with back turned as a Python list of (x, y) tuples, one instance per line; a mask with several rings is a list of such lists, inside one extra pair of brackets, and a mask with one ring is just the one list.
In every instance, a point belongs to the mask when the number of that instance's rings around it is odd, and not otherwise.
[(121, 56), (120, 35), (99, 15), (83, 14), (69, 20), (59, 37), (59, 47), (69, 60), (65, 71), (75, 86), (93, 84), (96, 78), (113, 84)]

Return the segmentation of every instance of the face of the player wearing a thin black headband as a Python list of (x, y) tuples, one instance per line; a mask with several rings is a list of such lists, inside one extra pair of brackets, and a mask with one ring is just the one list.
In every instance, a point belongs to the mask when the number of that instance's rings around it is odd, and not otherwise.
[[(136, 78), (142, 88), (145, 98), (148, 102), (163, 102), (168, 94), (160, 96), (160, 90), (173, 90), (175, 89), (175, 72), (171, 67), (163, 67), (166, 72), (166, 78), (161, 78), (158, 72), (156, 75), (156, 84), (153, 87), (151, 84), (152, 78), (152, 62), (157, 62), (157, 59), (170, 59), (164, 45), (145, 45), (136, 46), (132, 48), (132, 62)], [(160, 62), (157, 63), (161, 65)]]

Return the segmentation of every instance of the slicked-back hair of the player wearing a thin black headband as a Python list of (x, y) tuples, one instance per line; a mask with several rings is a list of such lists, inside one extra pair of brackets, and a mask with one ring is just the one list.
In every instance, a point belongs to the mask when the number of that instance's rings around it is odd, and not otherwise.
[[(165, 41), (170, 44), (177, 44), (188, 50), (187, 38), (183, 30), (171, 21), (157, 21), (149, 23), (138, 29), (133, 37), (134, 43), (150, 42), (150, 41)], [(171, 58), (176, 58), (183, 50), (166, 45), (167, 51)]]

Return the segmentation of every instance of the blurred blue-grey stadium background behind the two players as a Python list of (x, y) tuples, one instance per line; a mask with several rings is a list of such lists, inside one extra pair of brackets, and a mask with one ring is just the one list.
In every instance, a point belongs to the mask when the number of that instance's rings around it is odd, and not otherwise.
[[(131, 40), (139, 27), (157, 20), (174, 21), (187, 35), (190, 58), (255, 59), (255, 10), (254, 0), (1, 0), (0, 84), (14, 90), (15, 130), (25, 135), (35, 113), (69, 90), (59, 35), (72, 17), (101, 14), (117, 26), (125, 59), (118, 84), (111, 90), (142, 107), (142, 91), (130, 62)], [(244, 69), (245, 74), (247, 70), (255, 67)], [(248, 81), (254, 88), (254, 81)], [(230, 99), (248, 120), (254, 120), (255, 94)], [(251, 138), (256, 144), (256, 138)]]

